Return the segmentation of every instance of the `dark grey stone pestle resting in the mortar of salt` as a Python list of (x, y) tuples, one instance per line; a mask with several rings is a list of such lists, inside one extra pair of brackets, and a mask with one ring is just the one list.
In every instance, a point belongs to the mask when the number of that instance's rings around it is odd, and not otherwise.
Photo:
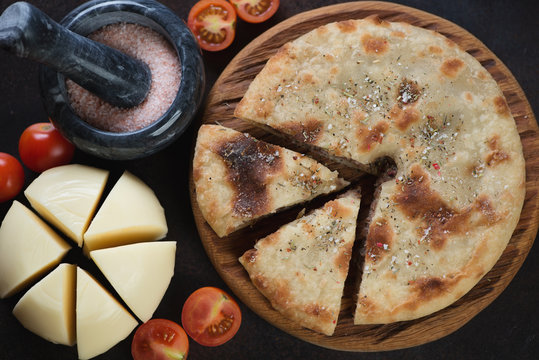
[(55, 69), (114, 106), (136, 106), (150, 90), (146, 64), (65, 29), (26, 2), (0, 16), (0, 48)]

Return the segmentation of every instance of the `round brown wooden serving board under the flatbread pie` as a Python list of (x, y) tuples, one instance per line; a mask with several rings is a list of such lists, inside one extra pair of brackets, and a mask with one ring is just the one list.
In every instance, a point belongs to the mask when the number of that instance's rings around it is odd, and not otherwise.
[[(354, 286), (353, 281), (348, 279), (334, 335), (325, 336), (302, 328), (273, 310), (269, 302), (252, 285), (247, 272), (237, 260), (246, 250), (252, 248), (258, 239), (293, 220), (301, 208), (297, 207), (266, 218), (252, 228), (220, 239), (200, 213), (192, 173), (190, 174), (191, 201), (200, 238), (213, 265), (234, 294), (258, 315), (283, 331), (313, 344), (347, 351), (381, 351), (416, 346), (439, 339), (463, 326), (490, 304), (515, 276), (534, 242), (539, 220), (539, 196), (537, 196), (539, 129), (522, 89), (507, 67), (473, 35), (447, 20), (420, 10), (387, 2), (362, 1), (308, 11), (283, 21), (252, 41), (230, 62), (209, 94), (202, 121), (204, 123), (218, 122), (239, 131), (249, 132), (259, 139), (283, 145), (282, 140), (234, 118), (234, 109), (251, 81), (268, 58), (286, 42), (329, 22), (360, 19), (370, 15), (378, 15), (387, 21), (403, 21), (435, 30), (455, 41), (492, 74), (503, 90), (515, 118), (526, 159), (524, 208), (520, 222), (501, 258), (470, 292), (451, 306), (417, 320), (386, 325), (356, 326), (353, 324)], [(338, 169), (345, 178), (362, 182), (362, 178), (354, 171), (340, 168), (337, 164), (328, 164), (327, 161), (325, 163), (332, 169)], [(370, 183), (372, 189), (372, 180)], [(370, 190), (368, 184), (365, 186), (363, 209), (366, 207), (365, 203), (368, 202)], [(325, 200), (327, 198), (306, 206), (309, 209), (316, 208)], [(360, 242), (362, 242), (361, 239), (358, 239), (358, 243)], [(352, 273), (356, 269), (352, 264), (350, 269), (353, 278)]]

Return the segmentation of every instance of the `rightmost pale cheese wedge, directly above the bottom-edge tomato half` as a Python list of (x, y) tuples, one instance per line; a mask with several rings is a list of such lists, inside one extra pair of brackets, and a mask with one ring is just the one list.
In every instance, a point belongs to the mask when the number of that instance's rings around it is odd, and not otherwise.
[(174, 275), (176, 242), (124, 245), (90, 256), (135, 315), (150, 320)]

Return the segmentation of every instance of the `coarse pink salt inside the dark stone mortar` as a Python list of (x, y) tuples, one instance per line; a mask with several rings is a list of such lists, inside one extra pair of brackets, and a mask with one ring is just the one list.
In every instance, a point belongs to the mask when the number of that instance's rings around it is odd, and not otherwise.
[(148, 64), (152, 81), (141, 104), (121, 109), (68, 79), (67, 91), (77, 115), (93, 127), (117, 133), (139, 130), (159, 119), (180, 87), (180, 61), (172, 45), (154, 30), (127, 23), (107, 25), (88, 37)]

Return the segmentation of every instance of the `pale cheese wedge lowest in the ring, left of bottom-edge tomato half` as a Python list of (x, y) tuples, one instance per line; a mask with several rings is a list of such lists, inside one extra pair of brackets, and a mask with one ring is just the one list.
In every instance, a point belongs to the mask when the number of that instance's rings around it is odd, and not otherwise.
[(77, 268), (77, 350), (79, 359), (104, 353), (125, 339), (138, 322), (86, 271)]

